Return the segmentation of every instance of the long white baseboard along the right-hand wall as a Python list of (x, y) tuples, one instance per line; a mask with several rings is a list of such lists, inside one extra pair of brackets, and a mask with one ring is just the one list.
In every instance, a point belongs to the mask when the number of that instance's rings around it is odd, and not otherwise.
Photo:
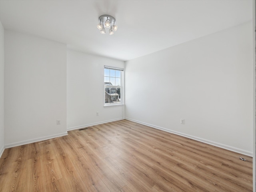
[(225, 144), (221, 144), (221, 143), (217, 143), (217, 142), (214, 142), (214, 141), (199, 138), (199, 137), (196, 137), (196, 136), (184, 134), (184, 133), (177, 132), (177, 131), (174, 131), (174, 130), (169, 130), (169, 129), (162, 128), (162, 127), (159, 127), (159, 126), (155, 126), (155, 125), (152, 125), (152, 124), (148, 124), (148, 123), (145, 123), (145, 122), (140, 122), (140, 121), (137, 121), (137, 120), (134, 120), (134, 119), (130, 119), (130, 118), (125, 118), (125, 119), (127, 119), (129, 121), (139, 123), (139, 124), (142, 124), (142, 125), (146, 125), (146, 126), (149, 126), (149, 127), (152, 127), (152, 128), (160, 129), (160, 130), (163, 130), (163, 131), (166, 131), (166, 132), (169, 132), (169, 133), (180, 135), (180, 136), (183, 136), (183, 137), (186, 137), (186, 138), (197, 140), (197, 141), (200, 141), (200, 142), (203, 142), (203, 143), (206, 143), (206, 144), (210, 144), (210, 145), (213, 145), (213, 146), (216, 146), (216, 147), (220, 147), (220, 148), (223, 148), (223, 149), (226, 149), (226, 150), (230, 150), (230, 151), (233, 151), (233, 152), (244, 154), (244, 155), (247, 155), (247, 156), (250, 156), (250, 157), (253, 156), (253, 153), (251, 151), (247, 151), (247, 150), (243, 150), (243, 149), (240, 149), (240, 148), (228, 146), (228, 145), (225, 145)]

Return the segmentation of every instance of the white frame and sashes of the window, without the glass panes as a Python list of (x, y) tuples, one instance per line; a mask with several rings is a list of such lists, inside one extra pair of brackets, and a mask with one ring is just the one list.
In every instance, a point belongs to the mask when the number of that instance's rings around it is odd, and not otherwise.
[[(109, 68), (109, 69), (114, 69), (114, 70), (120, 70), (121, 72), (121, 85), (120, 86), (113, 86), (113, 87), (120, 87), (120, 97), (121, 97), (121, 101), (118, 103), (105, 103), (106, 100), (106, 86), (105, 86), (105, 82), (104, 82), (104, 107), (108, 107), (108, 106), (120, 106), (120, 105), (124, 105), (124, 68), (118, 68), (118, 67), (112, 67), (112, 66), (104, 66), (105, 68)], [(104, 78), (105, 79), (105, 78)], [(111, 89), (109, 91), (109, 94), (111, 93)], [(116, 92), (115, 92), (116, 94)], [(112, 96), (111, 96), (112, 97)], [(117, 96), (115, 96), (117, 98)]]

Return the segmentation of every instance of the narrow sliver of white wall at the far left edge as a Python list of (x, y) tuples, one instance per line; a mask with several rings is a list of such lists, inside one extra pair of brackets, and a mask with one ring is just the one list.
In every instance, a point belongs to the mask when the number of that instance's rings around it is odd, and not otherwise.
[(4, 152), (4, 27), (0, 22), (0, 157)]

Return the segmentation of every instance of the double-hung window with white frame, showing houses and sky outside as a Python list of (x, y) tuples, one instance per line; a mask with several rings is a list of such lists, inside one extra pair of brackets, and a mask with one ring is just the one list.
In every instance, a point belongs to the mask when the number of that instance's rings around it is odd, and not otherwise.
[(121, 68), (104, 67), (105, 106), (123, 104), (123, 71)]

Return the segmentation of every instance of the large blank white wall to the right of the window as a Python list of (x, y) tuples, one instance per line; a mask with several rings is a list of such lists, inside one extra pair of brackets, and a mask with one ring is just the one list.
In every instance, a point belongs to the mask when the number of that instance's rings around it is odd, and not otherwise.
[(252, 22), (130, 60), (125, 85), (127, 119), (252, 156)]

